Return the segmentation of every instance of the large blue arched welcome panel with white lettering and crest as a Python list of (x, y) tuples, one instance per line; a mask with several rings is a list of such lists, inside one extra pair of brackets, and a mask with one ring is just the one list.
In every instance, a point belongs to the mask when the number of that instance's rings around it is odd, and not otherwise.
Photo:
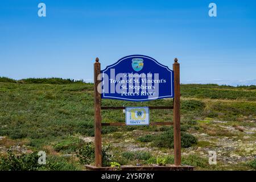
[(174, 71), (152, 57), (131, 55), (101, 71), (101, 98), (150, 101), (174, 97)]

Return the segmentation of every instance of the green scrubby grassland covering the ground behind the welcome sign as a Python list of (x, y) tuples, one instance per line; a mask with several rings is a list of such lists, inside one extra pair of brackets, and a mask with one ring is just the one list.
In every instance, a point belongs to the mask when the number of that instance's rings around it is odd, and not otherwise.
[[(172, 99), (102, 105), (168, 106)], [(46, 151), (47, 165), (35, 169), (84, 169), (93, 164), (93, 118), (93, 84), (0, 77), (0, 169), (8, 168), (9, 149), (26, 157)], [(171, 120), (171, 110), (151, 110), (150, 121)], [(102, 122), (125, 122), (125, 114), (104, 110)], [(256, 86), (181, 85), (182, 163), (204, 170), (255, 169), (255, 122)], [(171, 126), (105, 126), (102, 134), (106, 165), (173, 163)], [(210, 150), (217, 152), (217, 165), (208, 164)]]

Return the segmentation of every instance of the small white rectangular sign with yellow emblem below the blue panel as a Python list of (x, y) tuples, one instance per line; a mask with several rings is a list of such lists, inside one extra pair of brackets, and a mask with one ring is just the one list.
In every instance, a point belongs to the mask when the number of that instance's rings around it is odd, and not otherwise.
[(148, 107), (126, 107), (125, 123), (126, 125), (149, 125)]

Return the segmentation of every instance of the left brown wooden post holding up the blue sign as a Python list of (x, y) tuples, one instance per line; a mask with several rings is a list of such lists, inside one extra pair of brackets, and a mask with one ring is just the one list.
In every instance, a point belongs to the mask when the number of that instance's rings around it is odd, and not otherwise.
[[(101, 64), (98, 57), (94, 63), (94, 146), (95, 146), (95, 166), (101, 167), (101, 90), (98, 90), (98, 75), (101, 73)], [(100, 87), (101, 88), (101, 87)]]

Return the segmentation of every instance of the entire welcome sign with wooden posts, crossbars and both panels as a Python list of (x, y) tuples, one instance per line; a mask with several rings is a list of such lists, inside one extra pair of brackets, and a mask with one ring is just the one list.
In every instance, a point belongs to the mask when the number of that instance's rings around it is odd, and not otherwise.
[[(102, 123), (101, 110), (123, 109), (123, 106), (101, 106), (101, 99), (149, 101), (173, 97), (173, 106), (151, 106), (151, 109), (173, 109), (173, 122), (152, 122), (151, 125), (174, 125), (174, 164), (181, 165), (180, 143), (180, 64), (174, 59), (172, 67), (158, 63), (143, 55), (131, 55), (119, 59), (101, 71), (98, 57), (94, 63), (94, 154), (95, 167), (102, 166), (101, 126), (123, 126), (119, 123)], [(175, 80), (174, 80), (175, 77)], [(174, 90), (175, 88), (175, 90)], [(126, 125), (150, 125), (148, 107), (126, 107)], [(87, 166), (88, 167), (88, 166)], [(193, 168), (192, 168), (193, 169)]]

